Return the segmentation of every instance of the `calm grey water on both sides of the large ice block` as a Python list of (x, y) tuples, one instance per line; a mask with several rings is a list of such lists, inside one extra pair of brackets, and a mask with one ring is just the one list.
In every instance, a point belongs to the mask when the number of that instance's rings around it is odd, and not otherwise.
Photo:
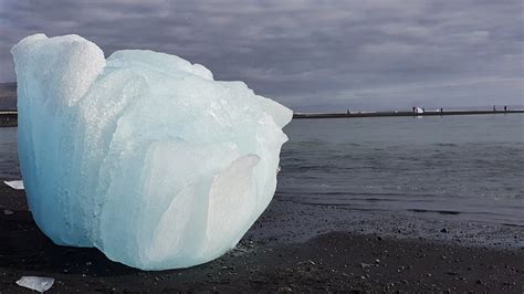
[[(0, 178), (19, 178), (0, 128)], [(280, 198), (524, 225), (524, 115), (293, 120)]]

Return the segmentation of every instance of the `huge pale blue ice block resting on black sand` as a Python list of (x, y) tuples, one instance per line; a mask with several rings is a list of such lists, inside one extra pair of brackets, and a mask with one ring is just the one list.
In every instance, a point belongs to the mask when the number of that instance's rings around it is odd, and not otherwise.
[(232, 249), (270, 203), (289, 108), (175, 55), (105, 60), (78, 35), (11, 52), (23, 182), (55, 243), (187, 267)]

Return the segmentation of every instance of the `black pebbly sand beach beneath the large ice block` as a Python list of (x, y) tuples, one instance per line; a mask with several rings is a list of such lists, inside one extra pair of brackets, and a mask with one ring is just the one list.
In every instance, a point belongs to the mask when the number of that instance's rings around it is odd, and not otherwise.
[[(52, 276), (56, 292), (524, 291), (524, 228), (312, 206), (275, 196), (227, 255), (144, 272), (43, 235), (22, 191), (0, 183), (0, 290)], [(28, 291), (29, 293), (30, 291)]]

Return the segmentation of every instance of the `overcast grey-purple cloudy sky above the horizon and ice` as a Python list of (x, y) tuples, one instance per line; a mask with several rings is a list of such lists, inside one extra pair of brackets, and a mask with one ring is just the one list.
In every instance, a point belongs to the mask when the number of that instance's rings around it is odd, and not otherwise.
[(524, 104), (524, 2), (0, 0), (0, 82), (28, 34), (177, 54), (295, 111)]

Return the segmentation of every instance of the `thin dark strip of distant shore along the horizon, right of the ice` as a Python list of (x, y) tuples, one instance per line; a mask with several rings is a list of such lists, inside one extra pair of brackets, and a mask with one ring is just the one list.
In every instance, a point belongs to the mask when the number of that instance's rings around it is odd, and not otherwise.
[(513, 111), (432, 111), (432, 112), (349, 112), (349, 113), (294, 113), (293, 118), (357, 118), (357, 117), (394, 117), (394, 116), (446, 116), (481, 114), (522, 114), (524, 109)]

